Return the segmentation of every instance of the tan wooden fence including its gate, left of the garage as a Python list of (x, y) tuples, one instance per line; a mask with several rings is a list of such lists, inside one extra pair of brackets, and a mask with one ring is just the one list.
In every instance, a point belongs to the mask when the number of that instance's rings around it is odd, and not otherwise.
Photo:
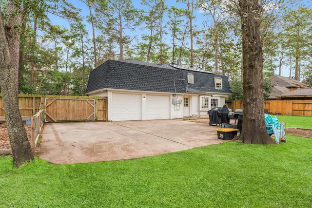
[[(23, 120), (44, 110), (45, 122), (107, 121), (107, 98), (100, 96), (18, 95)], [(0, 94), (0, 119), (4, 120)]]

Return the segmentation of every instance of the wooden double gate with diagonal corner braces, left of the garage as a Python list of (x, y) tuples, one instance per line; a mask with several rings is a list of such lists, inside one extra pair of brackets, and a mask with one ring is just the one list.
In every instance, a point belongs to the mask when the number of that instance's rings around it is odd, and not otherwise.
[(94, 121), (95, 99), (45, 97), (45, 122)]

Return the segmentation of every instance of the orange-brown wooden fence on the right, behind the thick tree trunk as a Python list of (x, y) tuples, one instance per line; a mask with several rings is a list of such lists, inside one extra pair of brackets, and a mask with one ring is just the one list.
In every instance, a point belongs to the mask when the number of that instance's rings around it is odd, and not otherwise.
[[(232, 110), (243, 109), (243, 102), (232, 100)], [(312, 99), (310, 100), (266, 100), (265, 111), (282, 115), (312, 115)]]

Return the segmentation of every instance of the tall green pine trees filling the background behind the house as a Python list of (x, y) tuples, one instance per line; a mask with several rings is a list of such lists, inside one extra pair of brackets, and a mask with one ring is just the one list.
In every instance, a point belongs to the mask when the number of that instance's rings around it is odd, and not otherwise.
[[(234, 12), (235, 4), (221, 0), (178, 0), (168, 8), (163, 0), (143, 0), (141, 9), (131, 0), (85, 3), (94, 14), (95, 52), (84, 23), (85, 19), (91, 21), (90, 16), (82, 17), (81, 9), (63, 0), (16, 1), (21, 7), (19, 12), (26, 11), (23, 21), (16, 25), (20, 33), (20, 93), (82, 95), (88, 73), (95, 68), (95, 53), (98, 65), (108, 59), (128, 58), (190, 65), (193, 56), (197, 69), (217, 69), (230, 80), (239, 80), (243, 74), (240, 21)], [(264, 72), (281, 75), (284, 70), (283, 76), (288, 76), (285, 71), (290, 76), (297, 73), (298, 79), (309, 83), (311, 8), (282, 2), (278, 8), (277, 4), (270, 8), (272, 11), (264, 13), (269, 18), (261, 24)], [(2, 14), (6, 14), (6, 9), (6, 0), (1, 1)], [(195, 20), (195, 15), (203, 21), (202, 24), (193, 21), (191, 28), (190, 21)], [(53, 16), (64, 19), (66, 28), (52, 22)], [(82, 86), (78, 86), (80, 83)], [(232, 90), (235, 92), (235, 87)], [(235, 94), (232, 99), (237, 97), (241, 95)]]

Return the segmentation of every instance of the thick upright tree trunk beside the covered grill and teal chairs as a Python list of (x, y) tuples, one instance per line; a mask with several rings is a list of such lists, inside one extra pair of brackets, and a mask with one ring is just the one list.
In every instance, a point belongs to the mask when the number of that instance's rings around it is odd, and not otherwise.
[(258, 0), (239, 0), (243, 38), (243, 143), (274, 144), (266, 131), (263, 107), (263, 57)]

